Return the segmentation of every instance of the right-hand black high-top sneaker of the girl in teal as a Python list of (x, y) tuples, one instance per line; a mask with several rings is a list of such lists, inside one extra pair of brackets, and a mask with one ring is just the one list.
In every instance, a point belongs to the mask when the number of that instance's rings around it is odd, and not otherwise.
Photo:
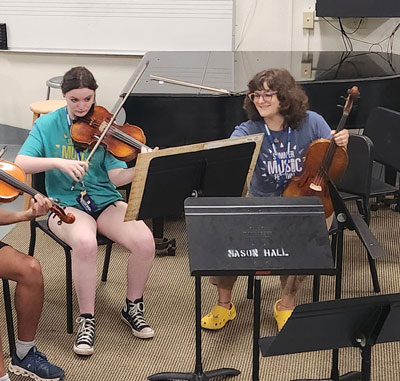
[(125, 324), (131, 327), (134, 336), (140, 339), (151, 339), (154, 331), (144, 320), (143, 313), (143, 298), (136, 299), (134, 302), (127, 299), (121, 312), (121, 318)]

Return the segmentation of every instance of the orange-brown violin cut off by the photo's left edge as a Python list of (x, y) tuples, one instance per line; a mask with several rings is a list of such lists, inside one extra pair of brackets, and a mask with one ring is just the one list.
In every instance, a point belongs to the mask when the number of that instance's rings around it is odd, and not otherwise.
[[(36, 189), (26, 185), (23, 181), (25, 179), (25, 172), (14, 163), (2, 160), (0, 161), (0, 202), (14, 201), (23, 192), (28, 193), (32, 197), (37, 194), (42, 195)], [(42, 195), (45, 197), (44, 195)], [(52, 201), (53, 206), (50, 210), (58, 216), (61, 222), (72, 224), (75, 221), (75, 216), (71, 213), (65, 213), (60, 205)]]

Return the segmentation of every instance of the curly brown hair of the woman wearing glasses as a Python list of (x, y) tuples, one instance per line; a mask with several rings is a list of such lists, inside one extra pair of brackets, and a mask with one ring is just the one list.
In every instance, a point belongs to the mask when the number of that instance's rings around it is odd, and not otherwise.
[[(308, 97), (304, 90), (287, 70), (269, 69), (257, 73), (250, 80), (247, 85), (249, 89), (247, 94), (264, 90), (264, 83), (271, 90), (278, 92), (279, 112), (285, 118), (286, 124), (291, 128), (298, 127), (308, 109)], [(248, 96), (245, 97), (243, 108), (246, 110), (249, 119), (263, 119)]]

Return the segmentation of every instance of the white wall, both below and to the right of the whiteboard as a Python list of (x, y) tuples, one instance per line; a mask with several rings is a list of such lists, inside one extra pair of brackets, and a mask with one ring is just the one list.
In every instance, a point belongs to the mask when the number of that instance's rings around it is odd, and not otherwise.
[[(315, 0), (236, 0), (236, 50), (343, 50), (340, 33), (326, 21), (317, 21), (313, 30), (303, 30), (303, 11), (314, 9)], [(388, 37), (399, 22), (399, 19), (367, 19), (365, 26), (352, 36), (378, 42)], [(351, 29), (354, 20), (347, 20), (345, 25)], [(398, 54), (399, 39), (400, 35), (394, 44), (394, 53)], [(360, 42), (353, 42), (353, 47), (354, 50), (370, 48)], [(386, 50), (386, 44), (382, 48)], [(77, 65), (87, 66), (93, 72), (99, 83), (98, 104), (111, 109), (140, 58), (0, 51), (0, 123), (29, 129), (32, 123), (29, 105), (45, 99), (46, 80)], [(60, 96), (59, 90), (52, 90), (52, 98)]]

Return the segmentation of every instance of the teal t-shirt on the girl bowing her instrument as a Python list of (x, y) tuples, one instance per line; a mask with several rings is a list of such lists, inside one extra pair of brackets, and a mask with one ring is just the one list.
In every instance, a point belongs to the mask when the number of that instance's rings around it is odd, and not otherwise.
[[(70, 135), (65, 108), (50, 114), (42, 115), (36, 120), (28, 138), (21, 147), (19, 154), (34, 157), (54, 157), (79, 160), (78, 153)], [(88, 151), (80, 153), (80, 160), (89, 156)], [(102, 209), (110, 203), (122, 200), (121, 194), (111, 183), (108, 171), (115, 168), (126, 168), (125, 162), (116, 159), (104, 147), (99, 146), (89, 162), (89, 170), (84, 176), (84, 186), (87, 194)], [(81, 182), (74, 184), (66, 173), (52, 169), (46, 171), (46, 192), (53, 199), (60, 200), (61, 205), (82, 209), (77, 201), (84, 189)]]

